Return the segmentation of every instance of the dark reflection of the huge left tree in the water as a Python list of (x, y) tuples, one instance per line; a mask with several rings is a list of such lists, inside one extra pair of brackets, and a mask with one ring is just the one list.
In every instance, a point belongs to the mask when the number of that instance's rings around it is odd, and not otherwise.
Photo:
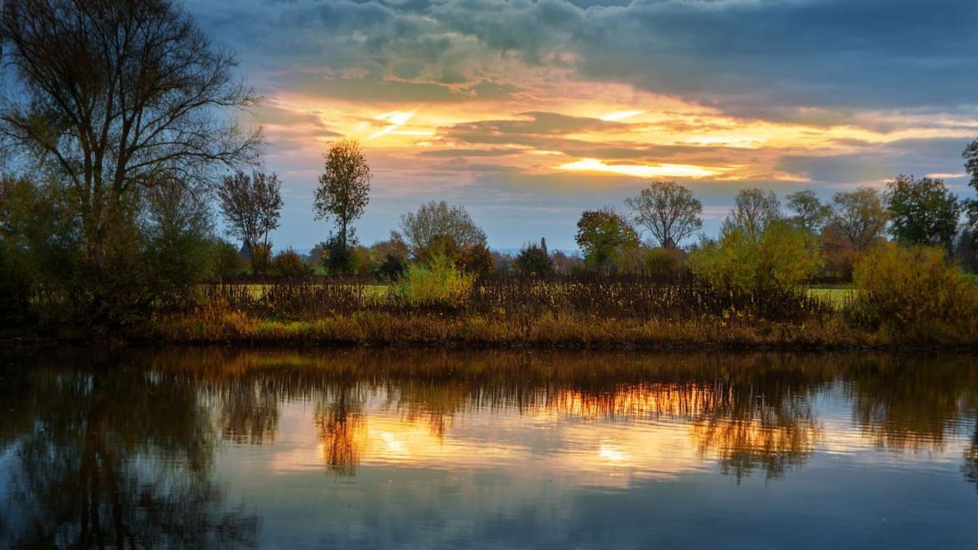
[(70, 369), (7, 368), (21, 392), (5, 404), (31, 418), (11, 439), (0, 537), (14, 547), (252, 542), (256, 518), (223, 508), (210, 478), (216, 434), (196, 388), (73, 359)]

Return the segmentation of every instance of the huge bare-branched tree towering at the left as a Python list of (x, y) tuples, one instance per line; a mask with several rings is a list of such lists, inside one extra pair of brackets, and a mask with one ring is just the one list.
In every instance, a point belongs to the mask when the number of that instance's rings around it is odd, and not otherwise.
[(0, 135), (67, 183), (93, 275), (131, 193), (194, 189), (216, 165), (253, 159), (260, 131), (229, 114), (256, 96), (234, 77), (234, 55), (170, 0), (7, 0), (2, 10), (21, 93), (2, 100)]

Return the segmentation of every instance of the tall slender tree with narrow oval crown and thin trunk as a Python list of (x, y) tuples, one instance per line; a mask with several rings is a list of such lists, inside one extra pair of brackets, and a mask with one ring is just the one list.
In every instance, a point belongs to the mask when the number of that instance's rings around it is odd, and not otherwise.
[(337, 245), (345, 254), (349, 245), (349, 226), (363, 215), (370, 201), (372, 179), (367, 157), (356, 140), (330, 144), (323, 175), (319, 177), (313, 202), (317, 220), (332, 218), (336, 224)]

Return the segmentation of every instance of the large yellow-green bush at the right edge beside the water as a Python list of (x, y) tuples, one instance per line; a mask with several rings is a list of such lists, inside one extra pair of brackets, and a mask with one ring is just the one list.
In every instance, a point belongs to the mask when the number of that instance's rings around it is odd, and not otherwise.
[(857, 262), (851, 319), (908, 338), (972, 338), (978, 323), (978, 289), (943, 249), (877, 245)]

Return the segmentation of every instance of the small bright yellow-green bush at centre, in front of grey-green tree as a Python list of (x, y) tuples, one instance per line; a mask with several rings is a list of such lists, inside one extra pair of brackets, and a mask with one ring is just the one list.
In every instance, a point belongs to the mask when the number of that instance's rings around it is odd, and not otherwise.
[(408, 268), (391, 290), (411, 304), (450, 302), (458, 305), (465, 301), (473, 281), (473, 275), (457, 268), (449, 258), (434, 256), (428, 267)]

